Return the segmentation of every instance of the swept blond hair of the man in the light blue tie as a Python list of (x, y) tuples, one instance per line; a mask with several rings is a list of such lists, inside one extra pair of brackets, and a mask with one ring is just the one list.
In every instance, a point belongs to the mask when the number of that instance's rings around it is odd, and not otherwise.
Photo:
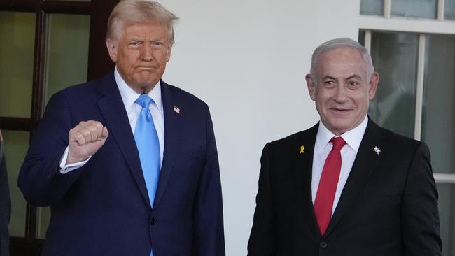
[(169, 31), (169, 43), (173, 45), (174, 24), (179, 17), (166, 10), (164, 6), (155, 1), (123, 0), (112, 10), (107, 22), (106, 38), (116, 41), (122, 34), (122, 29), (134, 23), (163, 24)]

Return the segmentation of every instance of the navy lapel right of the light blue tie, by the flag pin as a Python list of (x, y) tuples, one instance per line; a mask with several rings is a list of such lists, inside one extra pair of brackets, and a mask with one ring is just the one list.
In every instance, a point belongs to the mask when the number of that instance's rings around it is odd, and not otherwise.
[(179, 107), (178, 102), (172, 94), (169, 85), (161, 80), (161, 98), (165, 113), (165, 151), (160, 171), (160, 182), (155, 196), (155, 204), (153, 208), (157, 208), (160, 204), (162, 196), (165, 192), (169, 176), (172, 173), (175, 159), (178, 157), (177, 150), (180, 142), (180, 129), (182, 127), (180, 115), (185, 115), (185, 109), (181, 113), (174, 111), (174, 106)]

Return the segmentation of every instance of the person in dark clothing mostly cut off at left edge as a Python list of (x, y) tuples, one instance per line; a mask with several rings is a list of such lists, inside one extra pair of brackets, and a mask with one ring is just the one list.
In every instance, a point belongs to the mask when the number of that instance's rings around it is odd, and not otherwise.
[(11, 215), (11, 199), (4, 152), (3, 136), (1, 136), (0, 131), (0, 256), (10, 255), (10, 236), (8, 233), (8, 224), (10, 222)]

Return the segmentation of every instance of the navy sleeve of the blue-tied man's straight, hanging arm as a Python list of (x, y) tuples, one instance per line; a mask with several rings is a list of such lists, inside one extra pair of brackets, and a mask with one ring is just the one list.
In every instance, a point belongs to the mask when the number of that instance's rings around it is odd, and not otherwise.
[(209, 108), (206, 108), (207, 154), (193, 208), (193, 255), (224, 256), (220, 167)]

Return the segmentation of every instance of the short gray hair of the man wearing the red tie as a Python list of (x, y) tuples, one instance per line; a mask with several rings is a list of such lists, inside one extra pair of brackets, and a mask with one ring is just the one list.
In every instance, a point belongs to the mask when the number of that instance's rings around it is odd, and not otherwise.
[(351, 38), (335, 38), (330, 41), (327, 41), (316, 48), (314, 50), (313, 55), (311, 57), (311, 78), (316, 80), (317, 76), (317, 64), (319, 57), (324, 53), (328, 52), (329, 50), (334, 50), (337, 48), (352, 48), (354, 50), (358, 50), (363, 56), (363, 61), (365, 62), (365, 68), (367, 71), (367, 78), (370, 78), (374, 72), (374, 66), (371, 59), (370, 52), (368, 52), (367, 48), (360, 45), (357, 41), (353, 41)]

